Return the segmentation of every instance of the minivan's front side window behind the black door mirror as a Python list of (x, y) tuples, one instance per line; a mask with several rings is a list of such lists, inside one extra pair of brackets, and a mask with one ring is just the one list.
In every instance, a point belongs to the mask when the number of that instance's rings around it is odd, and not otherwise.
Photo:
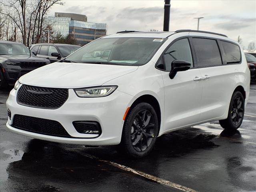
[(190, 45), (187, 38), (174, 42), (164, 53), (164, 70), (170, 71), (172, 62), (177, 59), (188, 61), (193, 66)]

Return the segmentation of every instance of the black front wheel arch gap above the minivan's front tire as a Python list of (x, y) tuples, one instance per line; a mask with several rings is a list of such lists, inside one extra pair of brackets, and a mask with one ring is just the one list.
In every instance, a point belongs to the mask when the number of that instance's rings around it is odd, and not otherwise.
[(144, 94), (142, 96), (139, 96), (130, 106), (130, 110), (128, 111), (127, 116), (129, 115), (131, 109), (134, 108), (134, 106), (136, 106), (138, 103), (141, 103), (141, 102), (150, 104), (156, 111), (156, 115), (158, 118), (158, 133), (157, 133), (157, 135), (158, 135), (160, 132), (160, 126), (161, 126), (161, 120), (162, 120), (161, 108), (160, 108), (160, 104), (159, 104), (158, 100), (154, 96), (152, 96), (150, 94)]

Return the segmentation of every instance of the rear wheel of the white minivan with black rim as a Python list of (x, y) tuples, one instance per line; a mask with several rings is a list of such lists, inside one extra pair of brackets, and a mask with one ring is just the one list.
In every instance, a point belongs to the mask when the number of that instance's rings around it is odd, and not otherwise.
[(220, 126), (227, 130), (237, 130), (244, 119), (244, 96), (240, 91), (235, 91), (230, 100), (228, 118), (220, 120)]

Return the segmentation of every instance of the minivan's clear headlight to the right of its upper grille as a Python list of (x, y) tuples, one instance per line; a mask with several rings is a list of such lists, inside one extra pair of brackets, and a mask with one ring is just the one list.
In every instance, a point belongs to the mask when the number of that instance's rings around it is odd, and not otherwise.
[(112, 94), (118, 86), (99, 86), (74, 89), (78, 97), (104, 97)]

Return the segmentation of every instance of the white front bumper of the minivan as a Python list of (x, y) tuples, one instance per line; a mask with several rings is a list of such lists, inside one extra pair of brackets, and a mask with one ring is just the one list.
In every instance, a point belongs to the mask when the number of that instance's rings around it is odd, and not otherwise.
[[(100, 98), (79, 98), (74, 90), (69, 89), (68, 92), (68, 100), (60, 108), (41, 109), (18, 104), (17, 91), (13, 89), (6, 101), (6, 106), (11, 111), (11, 118), (8, 118), (6, 126), (18, 134), (52, 142), (91, 146), (119, 144), (124, 124), (123, 116), (134, 97), (118, 90)], [(12, 120), (15, 114), (58, 121), (74, 138), (48, 136), (14, 128)], [(101, 126), (102, 134), (98, 136), (78, 133), (72, 124), (73, 121), (96, 121)], [(98, 137), (95, 138), (96, 136)]]

